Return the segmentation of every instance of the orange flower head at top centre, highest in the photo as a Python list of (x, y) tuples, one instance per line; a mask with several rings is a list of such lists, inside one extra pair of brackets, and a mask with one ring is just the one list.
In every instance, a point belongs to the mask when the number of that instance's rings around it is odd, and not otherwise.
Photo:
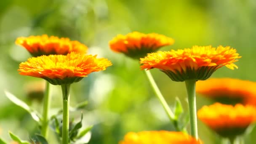
[(165, 45), (172, 45), (174, 40), (164, 35), (131, 32), (127, 35), (117, 35), (109, 41), (110, 48), (117, 53), (124, 53), (134, 59), (139, 59)]

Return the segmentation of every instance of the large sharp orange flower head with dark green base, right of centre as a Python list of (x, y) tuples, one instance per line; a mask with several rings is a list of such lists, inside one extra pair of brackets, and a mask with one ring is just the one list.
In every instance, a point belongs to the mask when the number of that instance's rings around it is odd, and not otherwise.
[(149, 53), (140, 63), (142, 69), (160, 69), (173, 81), (206, 80), (222, 66), (237, 68), (233, 63), (238, 58), (239, 54), (230, 47), (195, 45), (191, 49)]

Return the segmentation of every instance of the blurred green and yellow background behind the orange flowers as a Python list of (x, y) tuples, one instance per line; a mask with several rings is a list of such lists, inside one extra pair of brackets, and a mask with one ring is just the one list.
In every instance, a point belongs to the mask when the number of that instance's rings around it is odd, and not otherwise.
[[(5, 90), (42, 111), (38, 93), (43, 89), (43, 81), (17, 72), (19, 63), (30, 57), (25, 48), (15, 45), (17, 37), (69, 37), (87, 45), (89, 53), (112, 61), (107, 70), (72, 84), (71, 106), (88, 101), (82, 111), (84, 125), (94, 125), (89, 144), (117, 144), (129, 131), (174, 128), (138, 61), (109, 49), (112, 37), (139, 31), (175, 39), (175, 44), (162, 48), (163, 51), (192, 45), (229, 45), (242, 56), (236, 62), (239, 69), (223, 67), (212, 77), (256, 81), (255, 16), (255, 0), (0, 0), (0, 137), (10, 141), (8, 131), (13, 131), (28, 139), (38, 129), (28, 112), (6, 98)], [(171, 81), (157, 69), (151, 72), (170, 107), (179, 97), (187, 112), (185, 84)], [(51, 86), (51, 93), (51, 114), (55, 114), (62, 105), (60, 86)], [(197, 109), (211, 103), (197, 96)], [(79, 119), (80, 112), (71, 116)], [(220, 143), (213, 131), (200, 120), (198, 123), (199, 136), (205, 144)], [(245, 144), (256, 143), (256, 130), (251, 131), (245, 136)]]

